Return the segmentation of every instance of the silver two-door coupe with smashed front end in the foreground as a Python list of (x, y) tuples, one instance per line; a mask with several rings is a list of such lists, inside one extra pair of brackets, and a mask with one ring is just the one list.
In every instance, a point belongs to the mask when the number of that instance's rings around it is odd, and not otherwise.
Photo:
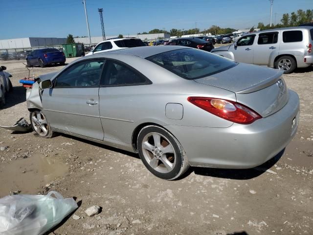
[(27, 107), (39, 136), (68, 133), (139, 153), (173, 180), (189, 165), (251, 168), (284, 149), (299, 97), (282, 74), (194, 48), (134, 47), (41, 75)]

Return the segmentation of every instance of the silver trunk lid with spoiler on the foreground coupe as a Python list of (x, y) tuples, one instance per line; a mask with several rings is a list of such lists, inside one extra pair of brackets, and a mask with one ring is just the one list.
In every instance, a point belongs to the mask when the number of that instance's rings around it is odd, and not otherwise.
[(265, 118), (288, 102), (289, 94), (282, 74), (279, 70), (240, 63), (229, 70), (194, 81), (236, 93), (237, 102)]

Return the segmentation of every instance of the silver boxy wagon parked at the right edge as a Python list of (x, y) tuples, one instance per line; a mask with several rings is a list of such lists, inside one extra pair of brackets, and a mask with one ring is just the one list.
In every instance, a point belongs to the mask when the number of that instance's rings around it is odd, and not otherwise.
[(246, 34), (213, 53), (237, 62), (266, 65), (291, 73), (313, 64), (313, 27), (289, 27)]

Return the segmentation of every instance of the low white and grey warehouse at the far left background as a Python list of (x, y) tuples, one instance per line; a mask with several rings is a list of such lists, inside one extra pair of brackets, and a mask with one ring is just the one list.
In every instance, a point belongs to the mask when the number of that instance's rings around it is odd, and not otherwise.
[(0, 40), (0, 49), (47, 47), (65, 44), (66, 38), (15, 38)]

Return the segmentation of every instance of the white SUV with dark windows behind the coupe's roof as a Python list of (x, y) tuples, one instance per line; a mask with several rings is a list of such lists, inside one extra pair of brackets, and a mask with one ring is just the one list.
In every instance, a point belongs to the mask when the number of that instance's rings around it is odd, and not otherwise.
[(96, 53), (107, 52), (112, 50), (118, 50), (128, 47), (143, 47), (146, 46), (139, 38), (116, 38), (109, 39), (98, 43), (87, 55), (93, 55)]

